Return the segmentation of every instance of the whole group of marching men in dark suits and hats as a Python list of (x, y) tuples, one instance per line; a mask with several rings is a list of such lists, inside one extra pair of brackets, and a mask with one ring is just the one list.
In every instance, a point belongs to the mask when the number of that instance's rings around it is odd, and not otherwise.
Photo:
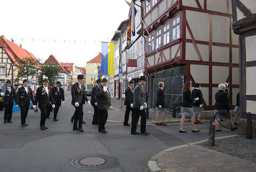
[[(90, 104), (86, 94), (85, 88), (83, 86), (84, 76), (77, 76), (77, 83), (72, 85), (72, 105), (76, 108), (71, 122), (74, 122), (73, 130), (83, 132), (82, 124), (83, 122), (83, 105), (87, 102)], [(129, 86), (125, 90), (125, 120), (124, 125), (128, 124), (129, 113), (132, 111), (132, 128), (131, 134), (145, 134), (148, 135), (146, 131), (146, 113), (147, 103), (145, 103), (145, 94), (143, 90), (143, 85), (146, 83), (145, 76), (140, 76), (139, 83), (136, 85), (134, 92), (134, 81), (129, 80)], [(18, 88), (19, 85), (15, 84), (15, 88), (12, 86), (12, 82), (7, 80), (6, 87), (2, 89), (1, 96), (4, 97), (4, 123), (12, 122), (12, 109), (13, 101), (15, 100), (15, 106), (20, 107), (20, 117), (22, 127), (26, 127), (26, 117), (28, 115), (28, 110), (30, 106), (30, 100), (32, 101), (31, 108), (36, 111), (36, 106), (41, 111), (40, 119), (40, 129), (45, 130), (46, 118), (50, 118), (50, 111), (54, 110), (54, 122), (58, 121), (57, 113), (62, 103), (65, 103), (64, 90), (61, 88), (61, 83), (56, 82), (56, 87), (49, 89), (49, 80), (44, 78), (43, 83), (36, 90), (36, 96), (34, 99), (32, 90), (28, 87), (28, 80), (23, 80), (22, 87)], [(93, 121), (92, 124), (99, 125), (99, 132), (107, 133), (105, 129), (105, 124), (108, 118), (108, 110), (112, 108), (111, 98), (108, 90), (108, 80), (102, 78), (102, 80), (97, 80), (97, 85), (93, 87), (92, 90), (92, 106), (94, 108)], [(138, 120), (141, 117), (141, 133), (136, 131)], [(78, 127), (77, 127), (78, 122)]]

